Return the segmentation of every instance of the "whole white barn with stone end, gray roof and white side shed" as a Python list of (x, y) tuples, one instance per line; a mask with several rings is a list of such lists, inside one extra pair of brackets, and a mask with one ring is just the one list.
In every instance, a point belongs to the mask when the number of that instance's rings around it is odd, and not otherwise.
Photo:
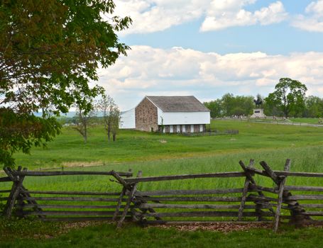
[[(134, 116), (133, 116), (134, 115)], [(121, 114), (121, 128), (163, 133), (199, 133), (210, 123), (209, 109), (194, 96), (145, 96)]]

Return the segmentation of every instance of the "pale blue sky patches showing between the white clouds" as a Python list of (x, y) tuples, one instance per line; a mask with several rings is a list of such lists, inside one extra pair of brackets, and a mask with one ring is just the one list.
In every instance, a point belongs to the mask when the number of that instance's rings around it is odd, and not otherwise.
[[(256, 11), (268, 6), (273, 1), (256, 1), (246, 6), (247, 11)], [(285, 10), (290, 14), (302, 14), (311, 1), (282, 1)], [(322, 33), (309, 33), (292, 28), (287, 21), (269, 26), (231, 27), (219, 31), (200, 32), (199, 27), (204, 18), (189, 23), (173, 26), (154, 33), (131, 34), (121, 37), (128, 45), (150, 45), (159, 48), (185, 47), (203, 52), (262, 51), (272, 54), (288, 54), (290, 52), (323, 52)]]

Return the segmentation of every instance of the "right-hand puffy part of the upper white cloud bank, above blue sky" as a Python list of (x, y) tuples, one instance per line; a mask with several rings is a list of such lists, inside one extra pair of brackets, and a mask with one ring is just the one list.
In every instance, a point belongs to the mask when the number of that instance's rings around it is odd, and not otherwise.
[(212, 1), (211, 8), (200, 29), (202, 31), (221, 30), (232, 26), (251, 26), (256, 23), (269, 25), (280, 23), (288, 16), (281, 1), (276, 1), (254, 13), (243, 9), (243, 6), (253, 2), (251, 0)]

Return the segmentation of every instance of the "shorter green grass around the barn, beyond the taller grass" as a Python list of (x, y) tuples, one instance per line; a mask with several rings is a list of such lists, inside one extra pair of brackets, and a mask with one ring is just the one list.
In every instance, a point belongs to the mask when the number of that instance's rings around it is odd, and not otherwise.
[(31, 155), (16, 154), (15, 157), (18, 165), (34, 169), (244, 154), (323, 145), (323, 128), (230, 120), (212, 121), (212, 128), (220, 131), (239, 130), (239, 135), (185, 137), (120, 130), (117, 141), (108, 142), (103, 127), (97, 126), (89, 130), (89, 141), (84, 144), (77, 131), (63, 128), (62, 134), (49, 142), (46, 149), (33, 148)]

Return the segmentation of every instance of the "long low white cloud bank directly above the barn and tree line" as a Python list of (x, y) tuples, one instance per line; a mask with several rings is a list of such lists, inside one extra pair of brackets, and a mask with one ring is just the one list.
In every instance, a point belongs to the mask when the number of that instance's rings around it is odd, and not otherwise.
[(266, 95), (281, 77), (300, 80), (309, 94), (323, 96), (322, 52), (219, 55), (181, 47), (131, 48), (128, 57), (99, 72), (99, 84), (122, 109), (136, 106), (145, 95), (195, 95), (201, 101), (227, 92)]

